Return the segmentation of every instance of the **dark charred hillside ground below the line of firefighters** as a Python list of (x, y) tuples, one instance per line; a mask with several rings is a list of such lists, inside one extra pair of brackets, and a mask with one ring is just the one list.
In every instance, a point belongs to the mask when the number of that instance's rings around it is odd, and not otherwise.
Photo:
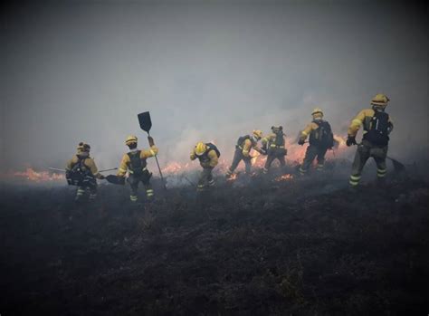
[[(373, 175), (371, 175), (373, 176)], [(427, 314), (428, 183), (327, 174), (157, 190), (3, 186), (0, 313)]]

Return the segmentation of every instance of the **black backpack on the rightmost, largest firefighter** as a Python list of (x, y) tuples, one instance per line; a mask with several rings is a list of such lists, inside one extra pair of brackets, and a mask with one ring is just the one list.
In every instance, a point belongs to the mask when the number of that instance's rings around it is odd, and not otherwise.
[(364, 139), (378, 146), (386, 146), (389, 142), (389, 115), (383, 111), (374, 111), (374, 116), (369, 121), (367, 132), (364, 134)]

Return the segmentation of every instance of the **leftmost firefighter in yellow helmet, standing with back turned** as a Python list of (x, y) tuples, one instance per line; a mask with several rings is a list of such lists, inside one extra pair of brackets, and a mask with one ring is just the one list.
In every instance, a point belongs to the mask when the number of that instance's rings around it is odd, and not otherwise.
[(86, 191), (90, 191), (90, 200), (97, 196), (97, 179), (104, 179), (95, 161), (90, 157), (91, 146), (80, 142), (76, 155), (69, 160), (65, 168), (65, 177), (71, 186), (78, 186), (76, 201), (81, 201)]

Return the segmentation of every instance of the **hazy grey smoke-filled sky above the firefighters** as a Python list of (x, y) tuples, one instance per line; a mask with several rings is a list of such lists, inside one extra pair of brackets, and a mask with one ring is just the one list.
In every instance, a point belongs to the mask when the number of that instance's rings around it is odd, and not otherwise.
[(378, 92), (391, 99), (391, 155), (429, 158), (425, 14), (388, 2), (11, 8), (1, 169), (62, 168), (80, 141), (100, 168), (116, 167), (129, 134), (148, 146), (145, 110), (161, 164), (186, 161), (198, 140), (231, 159), (239, 136), (272, 125), (294, 139), (314, 107), (345, 137)]

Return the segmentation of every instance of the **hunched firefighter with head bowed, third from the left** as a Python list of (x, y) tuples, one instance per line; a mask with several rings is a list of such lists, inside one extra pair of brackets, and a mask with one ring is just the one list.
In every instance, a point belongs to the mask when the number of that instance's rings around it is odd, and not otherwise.
[(203, 172), (201, 173), (196, 187), (198, 191), (203, 191), (206, 187), (215, 186), (215, 179), (213, 178), (212, 171), (218, 164), (220, 156), (221, 153), (219, 149), (212, 143), (198, 142), (195, 148), (192, 149), (191, 160), (198, 158), (201, 167), (203, 167)]

